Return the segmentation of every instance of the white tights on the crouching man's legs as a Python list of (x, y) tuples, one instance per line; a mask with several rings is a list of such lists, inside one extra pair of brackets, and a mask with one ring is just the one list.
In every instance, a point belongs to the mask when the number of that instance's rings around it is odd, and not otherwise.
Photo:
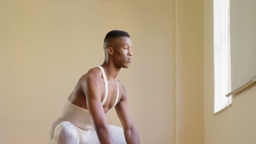
[[(123, 144), (125, 142), (123, 128), (109, 125), (114, 143)], [(95, 129), (83, 130), (75, 127), (68, 121), (61, 122), (54, 129), (51, 144), (100, 144)]]

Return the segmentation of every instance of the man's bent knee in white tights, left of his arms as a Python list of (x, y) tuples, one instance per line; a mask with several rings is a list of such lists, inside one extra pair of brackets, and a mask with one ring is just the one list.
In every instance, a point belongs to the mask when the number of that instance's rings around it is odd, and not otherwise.
[(69, 137), (76, 139), (77, 138), (77, 130), (74, 125), (70, 122), (61, 122), (55, 128), (55, 136), (60, 137)]

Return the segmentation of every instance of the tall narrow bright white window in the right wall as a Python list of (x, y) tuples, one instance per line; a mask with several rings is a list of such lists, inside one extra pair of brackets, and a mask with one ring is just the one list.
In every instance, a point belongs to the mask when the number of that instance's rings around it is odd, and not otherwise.
[(214, 113), (231, 104), (229, 0), (213, 0)]

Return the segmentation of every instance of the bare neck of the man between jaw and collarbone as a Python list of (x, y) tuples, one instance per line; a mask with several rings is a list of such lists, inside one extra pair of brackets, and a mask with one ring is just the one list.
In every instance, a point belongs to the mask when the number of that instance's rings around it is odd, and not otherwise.
[(118, 73), (121, 70), (121, 68), (117, 68), (114, 66), (113, 63), (107, 63), (104, 62), (101, 65), (106, 73), (107, 80), (115, 82), (115, 79), (117, 79)]

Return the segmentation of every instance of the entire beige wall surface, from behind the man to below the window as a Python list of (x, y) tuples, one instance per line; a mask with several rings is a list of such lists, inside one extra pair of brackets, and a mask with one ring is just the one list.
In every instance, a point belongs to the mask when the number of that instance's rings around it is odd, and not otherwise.
[[(119, 79), (141, 143), (255, 142), (256, 84), (213, 116), (212, 0), (1, 1), (0, 12), (0, 143), (47, 143), (112, 29), (135, 45)], [(108, 121), (120, 125), (114, 111)]]

